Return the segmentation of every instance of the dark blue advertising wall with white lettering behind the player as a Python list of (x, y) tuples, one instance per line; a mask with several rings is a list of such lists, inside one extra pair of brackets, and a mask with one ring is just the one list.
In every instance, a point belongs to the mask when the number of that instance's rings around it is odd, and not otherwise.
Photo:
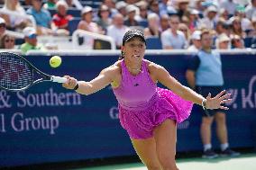
[[(49, 56), (27, 56), (43, 72), (90, 80), (118, 56), (62, 56), (62, 65), (50, 68)], [(147, 55), (187, 85), (186, 55)], [(227, 112), (230, 145), (255, 146), (256, 58), (223, 55), (225, 87), (233, 94)], [(213, 77), (214, 78), (214, 77)], [(178, 151), (201, 150), (197, 107), (178, 124)], [(254, 131), (253, 131), (254, 130)], [(0, 167), (135, 155), (118, 120), (117, 102), (110, 86), (96, 94), (80, 95), (59, 84), (34, 85), (27, 91), (0, 90)], [(216, 138), (213, 138), (218, 148)]]

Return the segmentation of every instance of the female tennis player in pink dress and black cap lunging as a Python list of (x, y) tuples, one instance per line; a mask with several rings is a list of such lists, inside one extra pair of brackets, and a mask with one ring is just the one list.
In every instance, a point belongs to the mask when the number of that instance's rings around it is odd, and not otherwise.
[[(231, 101), (230, 94), (223, 91), (204, 98), (178, 83), (164, 67), (144, 59), (145, 49), (142, 31), (127, 31), (121, 58), (114, 65), (89, 82), (65, 76), (68, 82), (63, 86), (87, 95), (111, 84), (119, 103), (121, 125), (143, 164), (150, 170), (177, 170), (177, 123), (187, 119), (193, 103), (227, 110), (222, 104)], [(157, 82), (169, 90), (157, 87)]]

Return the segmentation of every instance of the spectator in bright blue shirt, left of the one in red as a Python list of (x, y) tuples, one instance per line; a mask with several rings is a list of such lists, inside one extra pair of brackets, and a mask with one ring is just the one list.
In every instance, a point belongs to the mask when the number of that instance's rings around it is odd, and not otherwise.
[(32, 0), (32, 7), (30, 7), (27, 14), (31, 14), (35, 19), (38, 34), (52, 34), (50, 30), (51, 16), (48, 10), (42, 7), (42, 0)]

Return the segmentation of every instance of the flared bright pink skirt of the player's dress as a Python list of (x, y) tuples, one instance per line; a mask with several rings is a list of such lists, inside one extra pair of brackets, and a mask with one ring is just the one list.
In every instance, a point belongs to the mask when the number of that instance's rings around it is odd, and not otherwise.
[(131, 139), (148, 139), (153, 130), (163, 121), (170, 119), (178, 123), (185, 121), (193, 107), (170, 90), (157, 88), (157, 93), (144, 110), (129, 110), (119, 104), (119, 119), (123, 129), (127, 130)]

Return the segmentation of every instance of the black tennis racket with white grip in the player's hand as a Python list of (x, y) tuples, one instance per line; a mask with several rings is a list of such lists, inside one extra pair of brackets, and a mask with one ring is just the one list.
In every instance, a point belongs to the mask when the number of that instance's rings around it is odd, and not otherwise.
[[(36, 73), (36, 74), (35, 74)], [(41, 82), (65, 83), (67, 78), (47, 75), (20, 55), (0, 52), (0, 88), (22, 91)]]

